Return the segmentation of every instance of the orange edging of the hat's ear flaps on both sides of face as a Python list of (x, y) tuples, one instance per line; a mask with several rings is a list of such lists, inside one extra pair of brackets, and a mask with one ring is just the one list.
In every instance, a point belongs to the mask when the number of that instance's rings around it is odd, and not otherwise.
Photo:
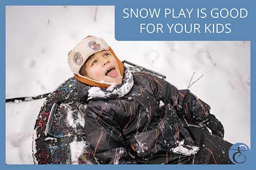
[[(121, 78), (123, 78), (123, 71), (124, 71), (124, 66), (123, 63), (117, 58), (116, 54), (114, 53), (114, 51), (112, 50), (112, 48), (109, 46), (109, 51), (110, 53), (114, 56), (114, 58), (117, 61), (117, 65), (119, 68), (119, 73), (121, 75)], [(82, 82), (84, 84), (88, 84), (90, 86), (96, 86), (96, 87), (101, 87), (101, 88), (108, 88), (111, 86), (111, 84), (107, 84), (107, 83), (100, 83), (98, 81), (86, 78), (86, 77), (80, 77), (79, 75), (75, 75), (75, 78), (79, 81)]]

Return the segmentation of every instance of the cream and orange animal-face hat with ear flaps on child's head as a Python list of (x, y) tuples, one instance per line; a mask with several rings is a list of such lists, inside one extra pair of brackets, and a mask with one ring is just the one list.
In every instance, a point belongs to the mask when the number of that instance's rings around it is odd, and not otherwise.
[(97, 86), (102, 88), (108, 88), (111, 85), (111, 83), (102, 83), (82, 76), (80, 74), (80, 69), (83, 64), (86, 63), (87, 59), (91, 55), (101, 52), (103, 50), (109, 51), (111, 55), (116, 59), (120, 75), (121, 77), (123, 77), (123, 63), (116, 57), (112, 48), (102, 38), (89, 35), (86, 38), (82, 39), (68, 54), (69, 67), (78, 81), (91, 86)]

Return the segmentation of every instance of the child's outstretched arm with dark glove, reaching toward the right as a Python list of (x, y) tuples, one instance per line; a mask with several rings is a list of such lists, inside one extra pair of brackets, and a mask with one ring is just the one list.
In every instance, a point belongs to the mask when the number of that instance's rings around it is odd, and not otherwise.
[(150, 86), (146, 88), (153, 90), (155, 98), (165, 104), (171, 104), (179, 116), (185, 116), (195, 123), (205, 122), (212, 133), (220, 137), (224, 136), (223, 126), (214, 115), (210, 114), (210, 106), (198, 99), (196, 95), (187, 89), (178, 90), (175, 86), (156, 76), (146, 73), (141, 73), (140, 76), (144, 76), (150, 82), (145, 86)]

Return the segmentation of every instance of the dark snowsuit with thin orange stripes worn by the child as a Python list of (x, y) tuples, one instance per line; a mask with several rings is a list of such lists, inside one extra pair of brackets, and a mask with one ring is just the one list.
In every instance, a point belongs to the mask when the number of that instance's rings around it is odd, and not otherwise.
[[(88, 100), (89, 89), (78, 82), (81, 101)], [(137, 72), (124, 96), (89, 100), (84, 133), (103, 164), (229, 164), (231, 143), (209, 110), (189, 90)]]

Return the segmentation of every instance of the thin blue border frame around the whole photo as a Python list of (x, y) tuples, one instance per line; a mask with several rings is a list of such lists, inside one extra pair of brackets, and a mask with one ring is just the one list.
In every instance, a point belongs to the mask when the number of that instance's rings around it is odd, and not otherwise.
[[(199, 0), (200, 1), (200, 0)], [(153, 1), (153, 0), (148, 0), (148, 1), (140, 1), (140, 2), (136, 2), (135, 0), (130, 0), (129, 2), (121, 2), (118, 0), (109, 0), (109, 1), (104, 1), (104, 0), (88, 0), (88, 1), (1, 1), (0, 2), (0, 20), (1, 20), (1, 25), (0, 25), (0, 53), (1, 53), (1, 58), (0, 58), (0, 69), (1, 69), (1, 77), (2, 79), (5, 80), (5, 18), (6, 18), (6, 6), (8, 5), (110, 5), (110, 6), (118, 6), (118, 5), (123, 5), (123, 3), (125, 4), (129, 4), (129, 5), (134, 5), (136, 6), (137, 4), (159, 4), (161, 3), (161, 0), (158, 1)], [(198, 1), (194, 0), (195, 3), (198, 3)], [(231, 3), (232, 2), (232, 3)], [(178, 5), (185, 4), (185, 1), (177, 1), (176, 2)], [(189, 1), (189, 4), (191, 4), (193, 2)], [(247, 6), (251, 6), (251, 7), (255, 7), (256, 5), (254, 5), (253, 1), (247, 1), (247, 0), (243, 0), (243, 1), (230, 1), (230, 0), (213, 0), (211, 2), (207, 2), (209, 5), (226, 5), (228, 6), (229, 3), (230, 4), (238, 4), (238, 5), (243, 5), (246, 4)], [(164, 2), (164, 4), (166, 4), (166, 2)], [(253, 103), (255, 103), (255, 68), (253, 68), (254, 63), (255, 63), (255, 58), (253, 57), (255, 55), (255, 33), (253, 32), (253, 27), (255, 26), (255, 12), (253, 12), (255, 10), (251, 10), (250, 11), (250, 22), (248, 22), (248, 25), (246, 24), (244, 26), (244, 28), (250, 28), (248, 30), (245, 30), (244, 35), (240, 35), (238, 36), (238, 38), (236, 40), (250, 40), (251, 41), (251, 151), (250, 151), (250, 155), (247, 156), (247, 161), (243, 164), (237, 164), (237, 165), (6, 165), (6, 152), (5, 152), (5, 82), (2, 81), (1, 83), (1, 104), (0, 104), (0, 108), (1, 108), (1, 114), (0, 114), (0, 133), (4, 134), (1, 138), (0, 141), (0, 169), (49, 169), (49, 168), (54, 168), (54, 169), (131, 169), (131, 168), (147, 168), (147, 169), (156, 169), (156, 168), (164, 168), (164, 169), (169, 169), (169, 168), (176, 168), (176, 169), (226, 169), (226, 168), (232, 168), (232, 169), (247, 169), (247, 168), (251, 168), (254, 165), (253, 162), (253, 158), (255, 158), (255, 151), (254, 151), (254, 147), (255, 147), (255, 136), (253, 135), (255, 133), (255, 124), (253, 124), (253, 120), (255, 121), (255, 115), (252, 114), (255, 112), (255, 105), (253, 105)], [(249, 35), (249, 36), (248, 36)], [(246, 38), (245, 38), (246, 37)], [(248, 39), (249, 37), (249, 39)], [(184, 39), (184, 38), (183, 38)], [(182, 39), (182, 40), (183, 40)], [(220, 38), (221, 39), (221, 38)], [(159, 40), (159, 39), (158, 39)], [(191, 39), (189, 39), (191, 40)], [(193, 40), (198, 40), (198, 39), (193, 39)], [(200, 40), (208, 40), (207, 37), (205, 38), (201, 38)], [(216, 39), (218, 40), (218, 39)], [(223, 40), (223, 39), (221, 39)], [(225, 40), (233, 40), (231, 39), (225, 39)], [(236, 107), (236, 106), (235, 106)], [(237, 123), (234, 123), (234, 125)], [(238, 141), (239, 142), (239, 141)]]

